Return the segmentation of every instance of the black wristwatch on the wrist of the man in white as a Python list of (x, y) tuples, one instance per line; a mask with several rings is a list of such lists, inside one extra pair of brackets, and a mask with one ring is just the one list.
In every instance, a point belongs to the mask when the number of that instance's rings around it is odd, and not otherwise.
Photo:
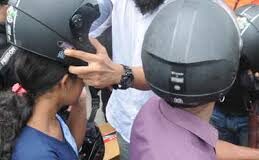
[(113, 85), (114, 89), (128, 89), (132, 87), (134, 75), (132, 73), (132, 69), (129, 66), (123, 65), (124, 74), (121, 76), (121, 80), (119, 84)]

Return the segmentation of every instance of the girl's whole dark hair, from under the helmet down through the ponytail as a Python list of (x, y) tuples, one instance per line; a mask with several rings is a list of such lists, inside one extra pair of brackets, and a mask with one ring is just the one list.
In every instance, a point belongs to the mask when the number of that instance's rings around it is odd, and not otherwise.
[(32, 114), (35, 98), (49, 91), (68, 73), (67, 67), (21, 49), (7, 67), (27, 93), (18, 96), (10, 91), (0, 92), (1, 160), (11, 159), (14, 141)]

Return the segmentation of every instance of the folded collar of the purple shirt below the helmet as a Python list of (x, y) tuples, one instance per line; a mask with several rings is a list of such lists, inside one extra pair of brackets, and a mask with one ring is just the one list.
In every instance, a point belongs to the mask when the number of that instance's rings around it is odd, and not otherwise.
[(171, 107), (163, 99), (159, 100), (159, 109), (168, 121), (195, 134), (215, 148), (218, 140), (218, 132), (208, 122), (201, 120), (190, 112)]

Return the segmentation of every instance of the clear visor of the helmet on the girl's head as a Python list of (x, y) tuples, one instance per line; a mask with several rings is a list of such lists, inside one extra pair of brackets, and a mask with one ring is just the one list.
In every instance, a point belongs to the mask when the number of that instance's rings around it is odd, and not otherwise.
[(100, 36), (107, 28), (112, 25), (112, 8), (113, 4), (111, 0), (97, 0), (100, 17), (96, 19), (89, 32), (89, 36), (96, 38)]

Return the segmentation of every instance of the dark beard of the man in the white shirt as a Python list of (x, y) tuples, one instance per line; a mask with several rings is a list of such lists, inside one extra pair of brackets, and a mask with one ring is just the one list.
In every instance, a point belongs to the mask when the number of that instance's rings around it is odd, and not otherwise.
[(165, 0), (134, 0), (137, 8), (144, 15), (146, 13), (152, 13), (156, 10)]

